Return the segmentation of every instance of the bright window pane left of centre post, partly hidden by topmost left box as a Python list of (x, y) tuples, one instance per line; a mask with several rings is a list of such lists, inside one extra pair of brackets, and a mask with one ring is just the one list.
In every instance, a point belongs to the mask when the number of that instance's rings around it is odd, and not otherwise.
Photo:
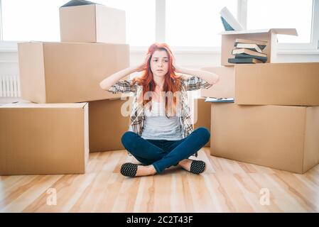
[[(3, 40), (60, 41), (59, 7), (66, 2), (2, 0)], [(126, 11), (126, 43), (145, 45), (155, 41), (155, 0), (94, 2)]]

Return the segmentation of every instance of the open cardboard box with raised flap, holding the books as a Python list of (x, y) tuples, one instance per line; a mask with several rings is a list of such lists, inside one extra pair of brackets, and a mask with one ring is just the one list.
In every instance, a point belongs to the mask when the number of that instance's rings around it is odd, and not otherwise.
[(234, 65), (232, 63), (228, 63), (228, 58), (234, 57), (232, 55), (232, 50), (235, 48), (234, 42), (237, 38), (267, 41), (268, 45), (263, 50), (263, 52), (266, 53), (268, 57), (267, 62), (276, 62), (277, 34), (298, 35), (295, 28), (269, 28), (260, 30), (224, 31), (220, 34), (222, 35), (222, 65)]

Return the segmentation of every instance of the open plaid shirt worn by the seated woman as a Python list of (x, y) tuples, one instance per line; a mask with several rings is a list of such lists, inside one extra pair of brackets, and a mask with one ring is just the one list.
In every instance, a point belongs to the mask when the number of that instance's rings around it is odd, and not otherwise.
[[(208, 89), (212, 87), (212, 84), (209, 84), (200, 77), (187, 77), (184, 75), (182, 75), (180, 82), (180, 124), (182, 126), (182, 137), (185, 138), (194, 131), (193, 123), (190, 118), (190, 107), (188, 106), (187, 91), (193, 91), (197, 89)], [(141, 104), (139, 104), (138, 98), (141, 94), (143, 94), (143, 86), (137, 83), (133, 84), (132, 80), (128, 79), (116, 82), (114, 85), (112, 85), (112, 87), (109, 88), (108, 91), (112, 92), (113, 94), (117, 94), (119, 92), (134, 92), (133, 108), (130, 114), (131, 128), (133, 129), (134, 133), (141, 136), (144, 128), (145, 116), (144, 108)], [(197, 157), (197, 153), (195, 154), (195, 156)]]

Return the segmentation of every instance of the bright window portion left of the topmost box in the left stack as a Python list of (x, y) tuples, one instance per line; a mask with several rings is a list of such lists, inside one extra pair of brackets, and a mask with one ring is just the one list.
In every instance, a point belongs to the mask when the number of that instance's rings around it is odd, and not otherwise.
[(65, 1), (2, 0), (3, 40), (60, 40), (59, 6)]

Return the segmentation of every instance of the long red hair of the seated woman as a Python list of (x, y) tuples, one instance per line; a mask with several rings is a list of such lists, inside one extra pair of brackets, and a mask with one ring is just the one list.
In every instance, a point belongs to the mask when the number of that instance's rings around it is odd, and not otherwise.
[[(165, 74), (165, 80), (163, 84), (163, 92), (171, 92), (171, 93), (166, 93), (166, 94), (175, 94), (175, 92), (180, 91), (180, 77), (175, 74), (175, 67), (173, 67), (173, 52), (171, 51), (171, 48), (166, 43), (154, 43), (152, 44), (146, 53), (146, 55), (150, 54), (151, 57), (153, 53), (156, 50), (166, 50), (168, 54), (168, 72)], [(139, 101), (141, 102), (141, 99), (143, 100), (143, 105), (146, 106), (149, 101), (152, 100), (152, 96), (147, 96), (146, 92), (153, 92), (155, 90), (156, 84), (153, 79), (153, 73), (151, 72), (151, 57), (149, 57), (149, 60), (146, 64), (146, 69), (144, 70), (144, 73), (141, 75), (141, 77), (135, 77), (133, 79), (134, 83), (138, 82), (143, 86), (143, 94), (142, 96), (139, 97)], [(146, 94), (146, 100), (143, 99), (145, 97), (144, 95)], [(149, 99), (148, 99), (149, 98)], [(168, 109), (170, 110), (171, 113), (175, 114), (175, 107), (176, 103), (178, 101), (178, 97), (173, 95), (173, 106), (168, 107), (168, 96), (166, 95), (165, 98), (165, 112), (166, 116), (168, 117)], [(150, 103), (151, 104), (151, 103)], [(151, 105), (150, 110), (151, 110)], [(172, 111), (173, 108), (173, 111)]]

